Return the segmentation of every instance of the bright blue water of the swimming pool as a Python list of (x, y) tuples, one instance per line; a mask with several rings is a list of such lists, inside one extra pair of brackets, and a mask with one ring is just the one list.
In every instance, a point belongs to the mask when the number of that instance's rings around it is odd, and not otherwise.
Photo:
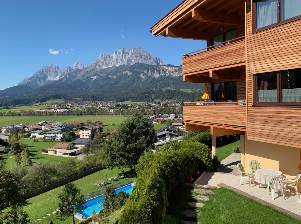
[[(126, 193), (131, 194), (133, 187), (134, 187), (134, 184), (129, 184), (129, 185), (126, 185), (126, 186), (116, 189), (115, 192), (117, 194), (119, 191), (124, 191)], [(86, 206), (86, 208), (84, 209), (84, 211), (82, 213), (77, 213), (77, 215), (79, 217), (85, 216), (86, 218), (88, 218), (88, 217), (92, 216), (93, 210), (95, 210), (96, 214), (99, 213), (100, 210), (103, 209), (101, 201), (104, 201), (103, 194), (101, 194), (100, 196), (98, 196), (96, 198), (92, 198), (92, 199), (85, 201), (84, 206)]]

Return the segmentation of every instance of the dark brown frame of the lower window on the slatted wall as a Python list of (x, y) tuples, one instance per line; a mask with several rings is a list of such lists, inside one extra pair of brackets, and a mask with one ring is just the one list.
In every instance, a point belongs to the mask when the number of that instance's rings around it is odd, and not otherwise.
[[(300, 71), (300, 70), (301, 69), (289, 69), (289, 70), (281, 70), (276, 72), (253, 74), (253, 106), (288, 106), (288, 107), (301, 106), (301, 102), (281, 102), (281, 73)], [(257, 76), (267, 75), (267, 74), (277, 74), (277, 102), (257, 102), (257, 89), (258, 89)]]

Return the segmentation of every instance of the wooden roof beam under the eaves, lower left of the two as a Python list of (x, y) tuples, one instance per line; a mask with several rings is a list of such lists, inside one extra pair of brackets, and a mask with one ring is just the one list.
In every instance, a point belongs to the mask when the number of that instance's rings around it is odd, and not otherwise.
[(195, 31), (195, 30), (181, 30), (181, 29), (166, 29), (166, 36), (182, 39), (194, 39), (194, 40), (210, 40), (211, 36), (208, 32)]

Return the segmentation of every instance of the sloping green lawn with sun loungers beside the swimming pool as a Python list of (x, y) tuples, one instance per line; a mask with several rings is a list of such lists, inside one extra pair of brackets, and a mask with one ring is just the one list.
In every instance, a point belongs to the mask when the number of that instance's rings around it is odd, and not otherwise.
[[(125, 169), (126, 177), (123, 179), (119, 179), (118, 181), (114, 181), (111, 183), (117, 183), (120, 181), (123, 181), (125, 179), (129, 178), (136, 178), (136, 174), (131, 174), (129, 169)], [(121, 170), (120, 169), (113, 169), (113, 170), (100, 170), (96, 173), (92, 173), (88, 176), (85, 176), (81, 179), (78, 179), (76, 181), (73, 181), (83, 194), (90, 193), (92, 191), (98, 190), (101, 187), (97, 187), (94, 185), (94, 183), (97, 183), (101, 180), (105, 180), (106, 177), (112, 177), (112, 176), (121, 176)], [(110, 181), (109, 181), (110, 182)], [(67, 219), (66, 221), (59, 221), (56, 219), (56, 216), (52, 214), (53, 211), (55, 211), (58, 208), (58, 194), (61, 193), (64, 186), (55, 188), (53, 190), (47, 191), (43, 194), (39, 194), (36, 197), (30, 198), (28, 200), (29, 203), (31, 203), (28, 207), (25, 207), (24, 210), (29, 214), (30, 218), (33, 220), (41, 218), (42, 220), (38, 221), (37, 224), (49, 224), (51, 220), (55, 224), (70, 224), (72, 223), (72, 218)], [(51, 215), (48, 216), (47, 214), (50, 213)], [(42, 218), (42, 216), (46, 216), (46, 218)], [(76, 221), (78, 221), (76, 219)]]

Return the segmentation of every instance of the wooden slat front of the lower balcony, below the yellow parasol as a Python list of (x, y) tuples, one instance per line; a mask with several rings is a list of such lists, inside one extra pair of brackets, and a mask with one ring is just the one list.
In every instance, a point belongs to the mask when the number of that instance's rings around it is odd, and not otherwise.
[(185, 121), (245, 128), (246, 107), (237, 105), (183, 105)]

